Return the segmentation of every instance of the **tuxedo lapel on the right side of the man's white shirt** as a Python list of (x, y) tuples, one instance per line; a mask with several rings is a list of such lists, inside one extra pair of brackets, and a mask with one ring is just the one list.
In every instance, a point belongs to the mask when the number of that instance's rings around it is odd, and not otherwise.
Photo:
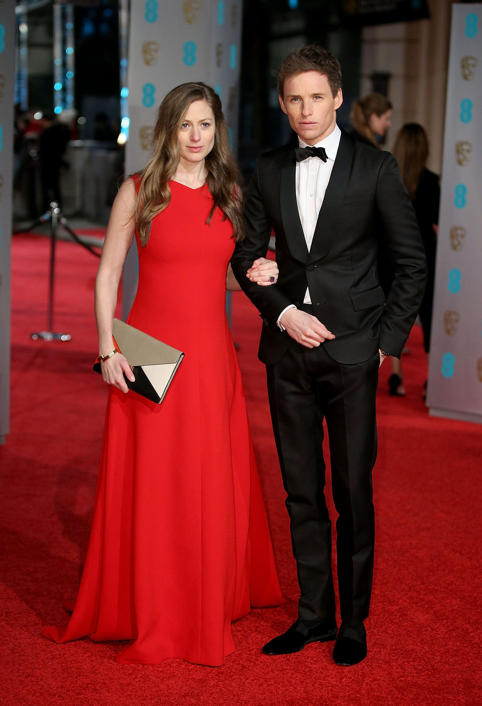
[[(325, 191), (325, 198), (323, 198), (323, 204), (318, 214), (309, 262), (321, 260), (330, 251), (333, 235), (337, 232), (337, 220), (341, 212), (344, 193), (347, 189), (353, 155), (354, 141), (342, 130), (337, 157), (335, 164), (333, 164), (330, 181)], [(296, 213), (298, 213), (297, 210)]]

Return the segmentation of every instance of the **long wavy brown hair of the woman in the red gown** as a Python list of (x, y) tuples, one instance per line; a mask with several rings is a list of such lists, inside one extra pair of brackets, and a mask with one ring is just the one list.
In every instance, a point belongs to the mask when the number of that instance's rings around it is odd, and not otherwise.
[(243, 239), (241, 213), (241, 173), (229, 150), (228, 128), (222, 114), (221, 101), (205, 83), (182, 83), (164, 97), (157, 112), (152, 136), (153, 155), (138, 172), (140, 186), (135, 202), (134, 217), (140, 244), (149, 239), (152, 218), (167, 208), (171, 201), (169, 179), (179, 164), (178, 133), (191, 103), (205, 100), (215, 116), (215, 142), (205, 158), (206, 184), (212, 196), (212, 208), (207, 216), (210, 225), (216, 208), (229, 218), (236, 241)]

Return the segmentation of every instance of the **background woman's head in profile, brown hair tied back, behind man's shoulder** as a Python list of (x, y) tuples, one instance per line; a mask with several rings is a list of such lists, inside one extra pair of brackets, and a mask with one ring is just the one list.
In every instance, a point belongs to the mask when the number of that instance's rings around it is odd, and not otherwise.
[(369, 93), (351, 106), (351, 137), (357, 142), (379, 148), (391, 125), (392, 103), (381, 93)]

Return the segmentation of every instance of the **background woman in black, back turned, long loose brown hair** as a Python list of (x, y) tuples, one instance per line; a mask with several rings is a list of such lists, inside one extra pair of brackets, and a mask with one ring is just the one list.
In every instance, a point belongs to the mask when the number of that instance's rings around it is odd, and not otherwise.
[[(438, 174), (426, 167), (428, 159), (427, 133), (418, 123), (407, 123), (399, 129), (392, 150), (398, 162), (400, 176), (406, 186), (420, 228), (427, 258), (427, 285), (418, 316), (423, 330), (423, 347), (430, 351), (433, 285), (435, 282), (435, 250), (437, 246), (440, 185)], [(402, 363), (392, 358), (392, 375), (388, 384), (391, 395), (404, 395)]]

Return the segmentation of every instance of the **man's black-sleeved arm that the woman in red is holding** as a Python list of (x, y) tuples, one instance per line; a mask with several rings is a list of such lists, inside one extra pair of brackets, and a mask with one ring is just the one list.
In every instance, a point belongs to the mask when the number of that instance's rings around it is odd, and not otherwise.
[(243, 207), (245, 238), (236, 244), (231, 258), (231, 268), (239, 286), (247, 294), (261, 315), (273, 330), (279, 330), (277, 319), (292, 301), (279, 289), (278, 285), (260, 287), (256, 282), (250, 282), (246, 271), (253, 262), (265, 257), (270, 244), (271, 220), (263, 203), (260, 184), (260, 160), (256, 163), (248, 196)]

